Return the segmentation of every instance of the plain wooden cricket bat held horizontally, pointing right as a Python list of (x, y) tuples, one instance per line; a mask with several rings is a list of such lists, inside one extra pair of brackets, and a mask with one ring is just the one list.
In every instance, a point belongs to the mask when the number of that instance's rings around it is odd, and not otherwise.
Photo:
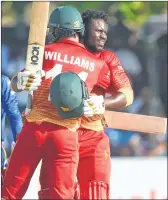
[(166, 134), (167, 118), (105, 111), (108, 128), (151, 134)]

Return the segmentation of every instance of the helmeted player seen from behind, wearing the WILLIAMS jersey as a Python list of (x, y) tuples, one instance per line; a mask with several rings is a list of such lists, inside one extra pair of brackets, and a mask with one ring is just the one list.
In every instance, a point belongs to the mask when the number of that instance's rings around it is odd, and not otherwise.
[[(23, 70), (12, 79), (14, 90), (34, 91), (34, 94), (32, 110), (25, 116), (10, 158), (2, 188), (4, 199), (23, 197), (41, 159), (47, 163), (47, 199), (73, 199), (79, 160), (77, 130), (84, 121), (93, 121), (93, 132), (99, 131), (101, 135), (98, 140), (104, 137), (101, 134), (104, 98), (92, 90), (99, 82), (100, 72), (107, 66), (79, 43), (84, 26), (75, 8), (58, 7), (52, 12), (49, 23), (57, 42), (46, 45), (43, 70), (36, 74)], [(74, 74), (78, 78), (75, 79)], [(54, 93), (50, 85), (57, 76)], [(85, 81), (89, 94), (92, 93), (87, 99), (84, 99), (86, 91), (81, 80)], [(92, 150), (90, 153), (93, 154)]]

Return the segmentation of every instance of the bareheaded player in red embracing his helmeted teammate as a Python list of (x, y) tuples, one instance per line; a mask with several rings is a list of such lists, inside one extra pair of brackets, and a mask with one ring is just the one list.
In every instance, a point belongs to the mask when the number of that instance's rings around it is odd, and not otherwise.
[[(105, 108), (113, 110), (130, 105), (133, 102), (133, 90), (117, 56), (103, 49), (107, 40), (107, 17), (107, 14), (102, 11), (88, 10), (82, 13), (85, 25), (84, 44), (96, 57), (100, 57), (107, 63), (107, 68), (101, 72), (99, 82), (92, 93), (103, 96), (105, 93), (112, 94), (105, 99)], [(103, 129), (99, 129), (101, 121), (98, 118), (92, 119), (93, 117), (89, 117), (89, 120), (83, 117), (78, 129), (77, 179), (80, 195), (77, 196), (81, 199), (108, 199), (111, 170), (109, 140)], [(42, 188), (39, 191), (40, 199), (46, 199), (48, 196), (46, 165), (47, 163), (43, 162), (40, 175)]]

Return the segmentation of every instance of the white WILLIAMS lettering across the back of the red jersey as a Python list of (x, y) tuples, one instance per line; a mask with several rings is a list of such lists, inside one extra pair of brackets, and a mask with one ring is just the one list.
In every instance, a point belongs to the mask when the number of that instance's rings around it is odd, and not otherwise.
[(57, 60), (62, 63), (76, 65), (76, 66), (82, 67), (86, 70), (89, 70), (90, 72), (93, 72), (95, 70), (95, 66), (96, 66), (96, 64), (94, 62), (91, 62), (84, 58), (77, 57), (77, 56), (69, 56), (67, 54), (62, 54), (62, 53), (53, 52), (53, 51), (45, 51), (45, 59), (46, 60)]

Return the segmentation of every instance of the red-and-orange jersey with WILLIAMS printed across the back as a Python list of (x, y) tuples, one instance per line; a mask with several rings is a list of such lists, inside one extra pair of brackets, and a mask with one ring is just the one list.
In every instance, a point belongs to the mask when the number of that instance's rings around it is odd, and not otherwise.
[(78, 128), (80, 119), (61, 119), (56, 108), (51, 105), (49, 88), (52, 79), (61, 72), (71, 71), (83, 79), (89, 91), (97, 83), (104, 61), (89, 53), (82, 44), (62, 40), (47, 45), (44, 52), (43, 70), (45, 77), (34, 92), (33, 109), (27, 116), (29, 121), (48, 121), (69, 128)]

